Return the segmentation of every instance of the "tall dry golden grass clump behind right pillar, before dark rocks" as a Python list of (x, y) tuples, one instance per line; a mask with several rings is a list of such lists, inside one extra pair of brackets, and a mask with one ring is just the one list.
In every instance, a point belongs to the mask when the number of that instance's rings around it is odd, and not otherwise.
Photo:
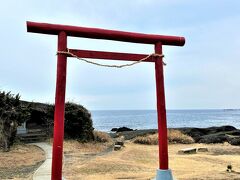
[[(139, 136), (133, 140), (137, 144), (157, 145), (158, 144), (158, 133)], [(183, 134), (179, 130), (169, 129), (168, 130), (168, 142), (171, 144), (192, 144), (194, 140), (192, 137)]]

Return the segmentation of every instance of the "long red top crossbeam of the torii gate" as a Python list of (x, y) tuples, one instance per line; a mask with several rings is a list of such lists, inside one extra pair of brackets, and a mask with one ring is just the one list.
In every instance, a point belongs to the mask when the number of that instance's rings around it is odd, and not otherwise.
[(106, 30), (99, 28), (87, 28), (78, 26), (67, 26), (48, 23), (37, 23), (27, 21), (27, 31), (34, 33), (58, 35), (59, 32), (65, 31), (68, 36), (85, 37), (93, 39), (108, 39), (115, 41), (134, 42), (155, 44), (162, 42), (163, 45), (183, 46), (184, 37), (164, 36), (155, 34), (142, 34), (116, 30)]

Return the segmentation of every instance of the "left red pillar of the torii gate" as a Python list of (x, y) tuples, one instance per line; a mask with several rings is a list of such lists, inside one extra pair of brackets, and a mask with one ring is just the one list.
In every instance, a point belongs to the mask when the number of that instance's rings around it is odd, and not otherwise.
[[(58, 51), (65, 51), (66, 48), (67, 48), (67, 35), (64, 31), (62, 31), (58, 34)], [(62, 179), (66, 71), (67, 71), (67, 57), (65, 55), (58, 54), (57, 83), (54, 111), (52, 180)]]

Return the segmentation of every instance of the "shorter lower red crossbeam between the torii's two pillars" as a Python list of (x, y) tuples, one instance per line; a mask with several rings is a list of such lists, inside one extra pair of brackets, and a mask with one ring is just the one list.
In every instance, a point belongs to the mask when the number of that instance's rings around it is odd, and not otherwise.
[[(129, 54), (129, 53), (76, 50), (76, 49), (69, 49), (69, 51), (81, 58), (93, 58), (93, 59), (104, 59), (104, 60), (138, 61), (148, 56), (147, 54)], [(155, 62), (155, 59), (153, 57), (149, 57), (143, 62)]]

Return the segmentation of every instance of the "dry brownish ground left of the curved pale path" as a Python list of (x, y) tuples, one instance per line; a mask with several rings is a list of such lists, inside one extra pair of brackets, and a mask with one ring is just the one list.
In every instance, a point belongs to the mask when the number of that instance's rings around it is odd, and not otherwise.
[(0, 152), (0, 179), (31, 179), (45, 160), (44, 152), (34, 145), (14, 145)]

